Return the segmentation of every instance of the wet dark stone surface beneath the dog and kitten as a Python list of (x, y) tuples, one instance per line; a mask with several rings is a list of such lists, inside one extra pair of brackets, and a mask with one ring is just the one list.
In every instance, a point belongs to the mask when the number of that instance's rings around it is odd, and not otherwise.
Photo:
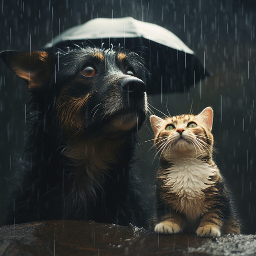
[(218, 239), (197, 238), (195, 234), (159, 236), (143, 228), (71, 220), (0, 227), (0, 255), (11, 256), (229, 255), (246, 250), (256, 253), (255, 241), (256, 236), (252, 235), (225, 235)]

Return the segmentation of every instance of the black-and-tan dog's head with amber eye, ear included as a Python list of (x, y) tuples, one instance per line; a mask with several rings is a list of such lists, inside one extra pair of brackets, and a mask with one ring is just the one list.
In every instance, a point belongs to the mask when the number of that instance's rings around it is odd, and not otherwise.
[(136, 132), (145, 119), (145, 69), (134, 52), (86, 47), (0, 56), (26, 80), (39, 112), (52, 106), (68, 138)]

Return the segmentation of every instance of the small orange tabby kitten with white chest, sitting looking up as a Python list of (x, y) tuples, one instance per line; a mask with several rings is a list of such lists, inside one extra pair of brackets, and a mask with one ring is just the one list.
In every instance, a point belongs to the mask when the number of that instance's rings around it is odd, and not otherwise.
[(240, 233), (229, 191), (212, 160), (213, 115), (207, 107), (198, 115), (150, 118), (160, 154), (156, 233), (196, 231), (199, 237)]

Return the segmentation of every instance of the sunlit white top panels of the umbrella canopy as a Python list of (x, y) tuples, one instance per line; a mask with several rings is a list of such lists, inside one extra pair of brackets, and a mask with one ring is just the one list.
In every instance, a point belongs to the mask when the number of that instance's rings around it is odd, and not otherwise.
[(100, 38), (134, 38), (143, 37), (161, 45), (194, 54), (184, 42), (169, 30), (156, 24), (141, 22), (132, 17), (95, 18), (82, 25), (70, 28), (56, 36), (46, 47), (52, 47), (62, 41), (75, 41)]

